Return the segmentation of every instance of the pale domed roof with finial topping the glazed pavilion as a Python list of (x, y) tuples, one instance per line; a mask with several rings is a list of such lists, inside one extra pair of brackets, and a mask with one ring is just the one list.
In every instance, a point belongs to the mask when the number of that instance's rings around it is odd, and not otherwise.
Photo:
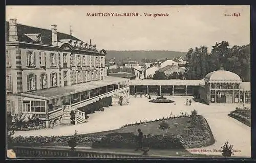
[(205, 82), (242, 82), (236, 73), (224, 70), (221, 66), (220, 70), (210, 72), (205, 76)]

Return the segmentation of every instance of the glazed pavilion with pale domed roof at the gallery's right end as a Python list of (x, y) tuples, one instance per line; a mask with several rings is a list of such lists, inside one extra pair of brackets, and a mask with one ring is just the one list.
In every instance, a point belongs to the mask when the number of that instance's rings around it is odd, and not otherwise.
[(220, 70), (208, 73), (204, 78), (204, 96), (206, 103), (239, 103), (242, 80), (236, 73)]

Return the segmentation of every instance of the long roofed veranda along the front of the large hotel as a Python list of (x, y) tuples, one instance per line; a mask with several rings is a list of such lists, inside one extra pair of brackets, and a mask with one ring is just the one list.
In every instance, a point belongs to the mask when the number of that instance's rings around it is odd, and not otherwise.
[(63, 115), (64, 108), (85, 106), (112, 96), (117, 90), (127, 89), (127, 85), (127, 79), (107, 76), (106, 80), (22, 93), (23, 113), (53, 119)]

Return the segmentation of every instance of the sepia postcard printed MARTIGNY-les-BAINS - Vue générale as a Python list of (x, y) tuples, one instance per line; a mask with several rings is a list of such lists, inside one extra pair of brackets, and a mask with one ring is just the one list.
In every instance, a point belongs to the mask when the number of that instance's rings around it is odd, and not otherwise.
[(7, 159), (251, 157), (250, 6), (6, 6)]

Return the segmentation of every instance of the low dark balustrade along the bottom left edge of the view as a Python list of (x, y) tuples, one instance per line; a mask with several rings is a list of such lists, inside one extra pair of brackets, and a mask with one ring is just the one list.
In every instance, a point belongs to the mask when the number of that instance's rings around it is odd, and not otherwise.
[[(16, 158), (151, 158), (158, 156), (144, 156), (142, 154), (90, 151), (86, 149), (63, 149), (63, 148), (43, 148), (43, 147), (14, 147)], [(159, 158), (159, 157), (158, 157)]]

